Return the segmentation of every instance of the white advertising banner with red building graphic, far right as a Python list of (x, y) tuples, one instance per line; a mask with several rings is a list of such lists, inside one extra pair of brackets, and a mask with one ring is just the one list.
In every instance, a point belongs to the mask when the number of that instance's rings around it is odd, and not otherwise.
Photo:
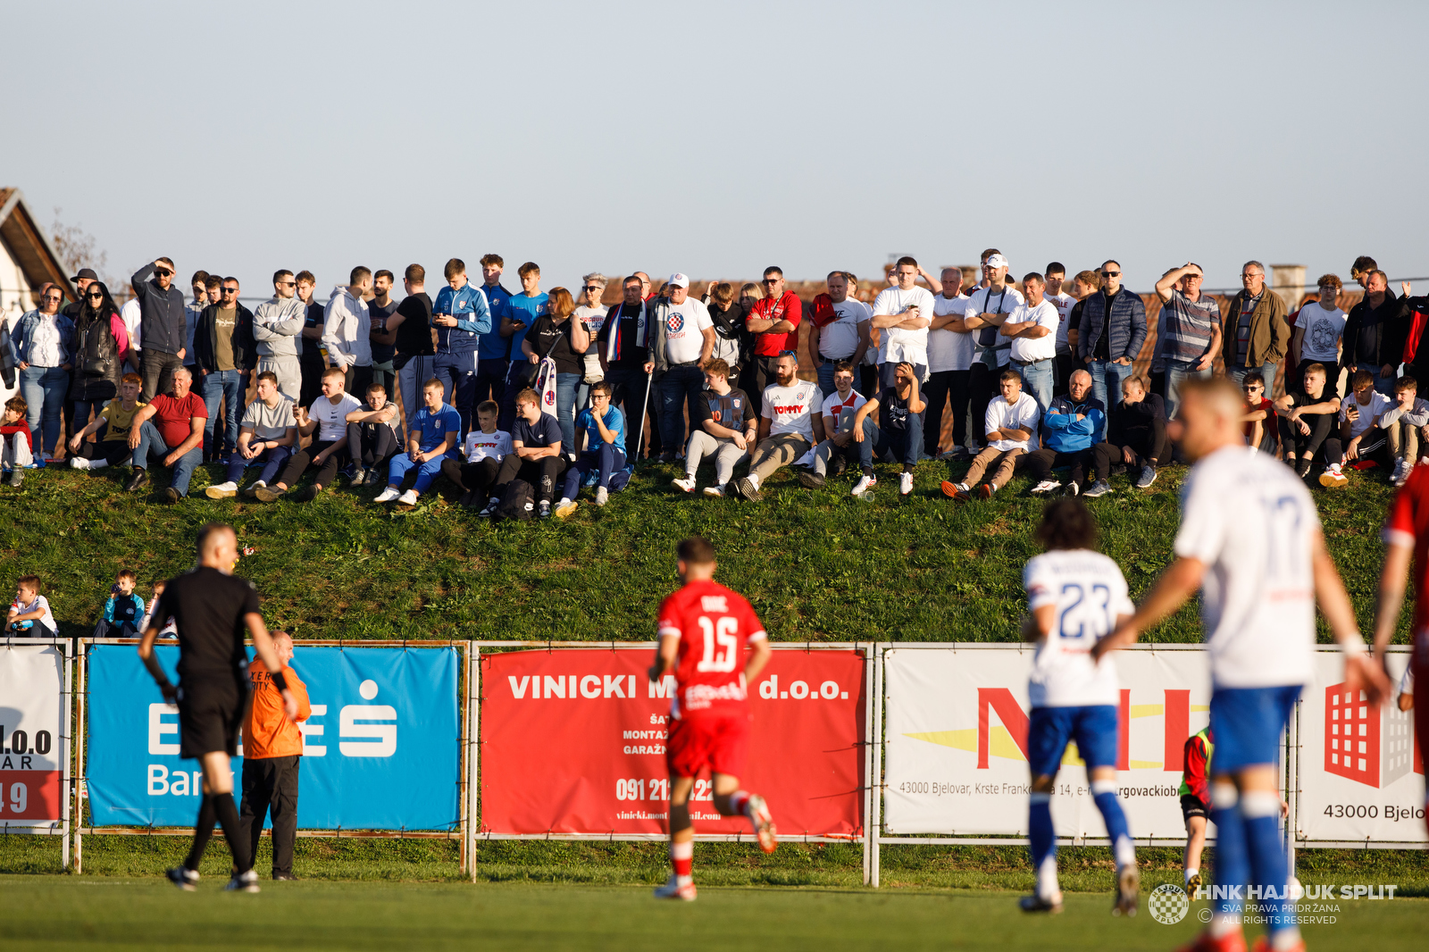
[(1425, 835), (1425, 765), (1413, 710), (1400, 710), (1409, 652), (1392, 652), (1395, 690), (1370, 708), (1345, 690), (1338, 649), (1315, 653), (1300, 696), (1296, 836), (1302, 841), (1416, 842)]

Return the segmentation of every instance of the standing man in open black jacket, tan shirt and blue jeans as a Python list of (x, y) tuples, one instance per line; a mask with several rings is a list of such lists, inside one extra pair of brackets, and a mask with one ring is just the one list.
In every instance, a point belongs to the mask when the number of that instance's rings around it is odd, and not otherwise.
[[(209, 407), (203, 433), (204, 462), (227, 462), (239, 447), (239, 416), (249, 377), (257, 366), (253, 312), (239, 303), (239, 279), (223, 279), (223, 296), (199, 314), (193, 329), (194, 370), (199, 393)], [(223, 440), (214, 439), (219, 400), (223, 400)]]

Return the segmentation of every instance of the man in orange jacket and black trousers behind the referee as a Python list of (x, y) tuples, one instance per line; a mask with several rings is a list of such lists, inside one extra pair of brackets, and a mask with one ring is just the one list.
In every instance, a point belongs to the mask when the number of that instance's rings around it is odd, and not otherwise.
[(249, 665), (253, 703), (243, 722), (243, 808), (239, 812), (240, 835), (249, 838), (259, 855), (263, 816), (273, 809), (273, 879), (293, 879), (293, 841), (297, 839), (297, 768), (303, 758), (303, 733), (299, 720), (307, 720), (313, 708), (307, 685), (289, 662), (293, 639), (273, 632), (273, 650), (283, 663), (283, 678), (297, 700), (297, 716), (283, 713), (283, 695), (260, 659)]

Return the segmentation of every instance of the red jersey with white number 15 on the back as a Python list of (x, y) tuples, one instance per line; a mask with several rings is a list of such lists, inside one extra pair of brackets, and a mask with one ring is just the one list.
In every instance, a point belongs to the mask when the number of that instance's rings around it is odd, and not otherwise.
[(657, 633), (680, 639), (670, 716), (747, 713), (745, 652), (766, 635), (745, 596), (690, 582), (660, 603)]

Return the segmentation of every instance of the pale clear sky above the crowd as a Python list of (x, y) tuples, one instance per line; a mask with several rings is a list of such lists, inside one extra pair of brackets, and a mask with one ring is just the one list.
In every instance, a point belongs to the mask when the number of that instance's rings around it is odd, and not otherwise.
[(126, 277), (805, 280), (989, 246), (1143, 292), (1187, 260), (1429, 276), (1425, 3), (0, 9), (0, 186)]

